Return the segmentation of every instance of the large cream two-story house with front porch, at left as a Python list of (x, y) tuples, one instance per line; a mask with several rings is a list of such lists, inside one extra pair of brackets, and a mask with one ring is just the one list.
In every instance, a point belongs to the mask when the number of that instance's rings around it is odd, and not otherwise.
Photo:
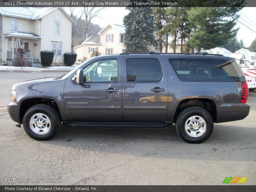
[(52, 50), (53, 62), (63, 63), (71, 51), (72, 24), (60, 7), (0, 7), (0, 62), (17, 65), (21, 59), (28, 65), (32, 58), (40, 61), (42, 50)]

